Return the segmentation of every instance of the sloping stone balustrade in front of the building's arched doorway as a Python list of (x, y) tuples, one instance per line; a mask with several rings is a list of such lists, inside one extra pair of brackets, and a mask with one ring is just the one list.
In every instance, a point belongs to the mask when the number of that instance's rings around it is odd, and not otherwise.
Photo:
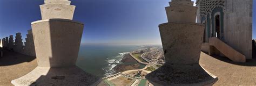
[[(219, 52), (235, 62), (246, 62), (245, 55), (239, 53), (218, 38), (209, 38), (209, 45), (214, 46)], [(209, 54), (211, 55), (212, 53), (214, 53), (214, 48), (210, 48)]]

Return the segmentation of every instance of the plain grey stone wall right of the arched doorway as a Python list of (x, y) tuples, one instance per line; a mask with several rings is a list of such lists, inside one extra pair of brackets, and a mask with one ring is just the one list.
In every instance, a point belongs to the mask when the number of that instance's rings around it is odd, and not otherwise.
[(226, 0), (224, 42), (252, 59), (252, 0)]

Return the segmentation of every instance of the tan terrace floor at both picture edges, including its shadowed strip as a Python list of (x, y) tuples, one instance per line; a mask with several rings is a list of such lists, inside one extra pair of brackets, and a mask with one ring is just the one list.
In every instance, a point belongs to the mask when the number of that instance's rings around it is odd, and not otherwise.
[[(219, 78), (214, 85), (256, 86), (256, 60), (237, 63), (202, 52), (200, 65)], [(12, 85), (11, 80), (29, 73), (36, 66), (35, 57), (4, 51), (4, 57), (0, 59), (0, 86)]]

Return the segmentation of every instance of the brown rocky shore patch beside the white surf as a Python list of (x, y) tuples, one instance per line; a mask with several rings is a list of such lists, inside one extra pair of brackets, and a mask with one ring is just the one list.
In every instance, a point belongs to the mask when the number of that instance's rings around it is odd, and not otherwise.
[(120, 62), (122, 63), (113, 68), (116, 71), (115, 73), (132, 69), (141, 69), (144, 66), (134, 60), (129, 54), (125, 54), (124, 58)]

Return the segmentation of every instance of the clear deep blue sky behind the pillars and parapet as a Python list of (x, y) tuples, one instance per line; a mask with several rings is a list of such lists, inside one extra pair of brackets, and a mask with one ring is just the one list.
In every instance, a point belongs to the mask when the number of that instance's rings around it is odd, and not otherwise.
[[(161, 44), (158, 25), (166, 23), (171, 0), (71, 0), (73, 20), (85, 24), (82, 44)], [(0, 38), (21, 32), (25, 41), (31, 22), (41, 20), (43, 0), (0, 1)], [(253, 15), (255, 2), (253, 2)], [(253, 18), (253, 33), (256, 33)], [(256, 39), (256, 34), (253, 34)]]

